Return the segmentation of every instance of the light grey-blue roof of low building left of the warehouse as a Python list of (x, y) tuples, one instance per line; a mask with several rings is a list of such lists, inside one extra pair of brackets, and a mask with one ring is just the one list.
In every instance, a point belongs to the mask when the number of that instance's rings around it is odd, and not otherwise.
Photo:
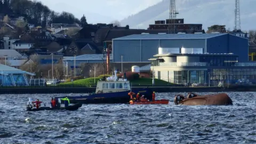
[[(112, 54), (109, 55), (109, 60), (112, 60)], [(76, 56), (76, 60), (102, 60), (103, 54), (83, 54)], [(106, 59), (106, 55), (105, 55)], [(75, 57), (66, 58), (63, 60), (75, 60)]]

